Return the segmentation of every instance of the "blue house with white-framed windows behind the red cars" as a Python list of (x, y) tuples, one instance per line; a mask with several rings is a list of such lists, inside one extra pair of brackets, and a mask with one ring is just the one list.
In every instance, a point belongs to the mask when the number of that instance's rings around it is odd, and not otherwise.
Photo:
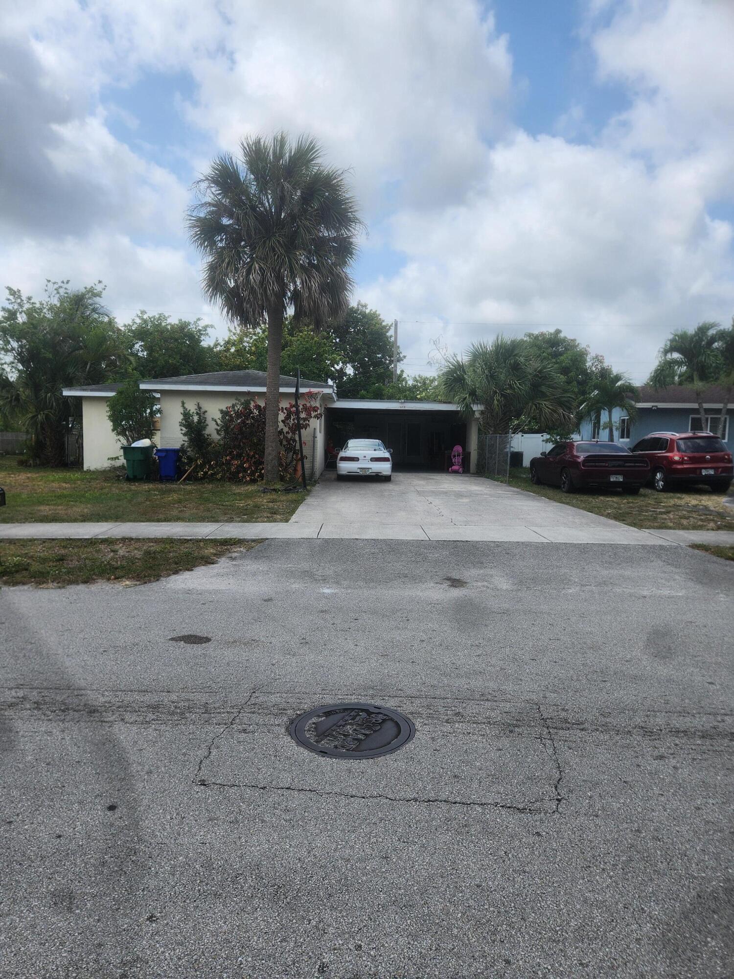
[[(635, 402), (637, 411), (634, 419), (630, 419), (621, 408), (615, 408), (612, 413), (614, 441), (628, 448), (632, 448), (651, 432), (711, 431), (721, 416), (725, 390), (723, 387), (712, 386), (704, 391), (706, 417), (703, 423), (699, 417), (700, 411), (693, 388), (674, 386), (656, 390), (649, 385), (642, 385), (639, 394), (639, 400)], [(605, 413), (599, 429), (594, 419), (585, 419), (580, 427), (581, 439), (606, 441), (609, 432), (604, 428), (604, 423), (608, 420)], [(721, 439), (734, 452), (734, 404), (726, 412)]]

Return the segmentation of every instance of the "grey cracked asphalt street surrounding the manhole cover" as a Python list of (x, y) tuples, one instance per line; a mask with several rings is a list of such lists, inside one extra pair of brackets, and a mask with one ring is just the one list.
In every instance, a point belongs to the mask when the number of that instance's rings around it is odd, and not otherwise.
[[(730, 976), (733, 595), (685, 547), (339, 539), (2, 589), (0, 975)], [(415, 737), (290, 738), (344, 700)]]

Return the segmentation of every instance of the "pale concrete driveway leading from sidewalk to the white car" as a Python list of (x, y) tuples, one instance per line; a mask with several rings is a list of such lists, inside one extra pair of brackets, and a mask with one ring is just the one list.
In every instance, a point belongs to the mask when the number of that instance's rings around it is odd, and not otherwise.
[(668, 542), (522, 489), (448, 473), (393, 473), (390, 483), (324, 473), (290, 527), (319, 538)]

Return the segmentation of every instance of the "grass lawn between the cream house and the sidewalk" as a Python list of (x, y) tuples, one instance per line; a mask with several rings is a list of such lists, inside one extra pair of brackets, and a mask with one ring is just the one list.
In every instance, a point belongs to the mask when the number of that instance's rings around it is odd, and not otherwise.
[(123, 469), (29, 469), (18, 456), (0, 456), (6, 506), (0, 523), (77, 521), (290, 520), (303, 492), (261, 492), (242, 483), (127, 483)]

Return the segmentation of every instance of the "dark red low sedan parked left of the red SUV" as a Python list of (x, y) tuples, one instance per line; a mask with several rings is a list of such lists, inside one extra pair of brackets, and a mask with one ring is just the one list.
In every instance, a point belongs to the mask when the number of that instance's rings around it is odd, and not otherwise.
[(650, 463), (614, 442), (559, 442), (530, 460), (530, 480), (573, 492), (606, 487), (638, 493), (650, 479)]

